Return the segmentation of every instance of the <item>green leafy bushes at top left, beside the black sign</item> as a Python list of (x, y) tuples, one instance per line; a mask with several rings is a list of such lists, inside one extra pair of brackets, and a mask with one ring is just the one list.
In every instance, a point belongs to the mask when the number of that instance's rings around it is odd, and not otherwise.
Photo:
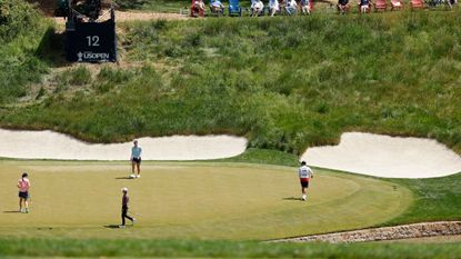
[(47, 24), (27, 1), (0, 0), (0, 106), (26, 96), (47, 71), (34, 53)]

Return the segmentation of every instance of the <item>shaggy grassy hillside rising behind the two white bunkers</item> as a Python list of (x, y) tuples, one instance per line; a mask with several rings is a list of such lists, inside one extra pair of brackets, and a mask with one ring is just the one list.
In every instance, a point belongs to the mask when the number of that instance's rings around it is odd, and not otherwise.
[(91, 141), (224, 132), (293, 153), (363, 130), (461, 152), (460, 21), (450, 11), (121, 24), (123, 66), (63, 71), (0, 124)]

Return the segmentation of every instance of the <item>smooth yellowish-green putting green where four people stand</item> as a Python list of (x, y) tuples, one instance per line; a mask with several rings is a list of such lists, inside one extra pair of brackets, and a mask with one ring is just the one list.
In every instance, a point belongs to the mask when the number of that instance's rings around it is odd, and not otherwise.
[[(152, 163), (128, 180), (117, 162), (0, 161), (0, 236), (272, 239), (364, 228), (404, 211), (394, 183), (317, 170), (302, 202), (297, 169), (232, 163)], [(16, 183), (30, 175), (32, 211), (18, 210)], [(129, 188), (133, 228), (120, 223)]]

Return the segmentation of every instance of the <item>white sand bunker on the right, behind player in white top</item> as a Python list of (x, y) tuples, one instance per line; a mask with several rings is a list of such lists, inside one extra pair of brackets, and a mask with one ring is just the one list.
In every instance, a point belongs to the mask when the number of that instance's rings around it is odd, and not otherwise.
[(308, 165), (385, 178), (431, 178), (461, 172), (461, 157), (434, 140), (349, 132), (339, 146), (309, 148)]

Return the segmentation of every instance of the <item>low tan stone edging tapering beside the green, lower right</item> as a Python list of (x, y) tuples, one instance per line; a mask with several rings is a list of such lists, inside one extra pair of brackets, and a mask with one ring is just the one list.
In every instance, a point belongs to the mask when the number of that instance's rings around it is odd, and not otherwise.
[(439, 221), (401, 225), (394, 227), (382, 227), (362, 229), (354, 231), (313, 235), (298, 238), (273, 240), (271, 242), (365, 242), (383, 240), (402, 240), (428, 237), (442, 237), (461, 235), (461, 221)]

